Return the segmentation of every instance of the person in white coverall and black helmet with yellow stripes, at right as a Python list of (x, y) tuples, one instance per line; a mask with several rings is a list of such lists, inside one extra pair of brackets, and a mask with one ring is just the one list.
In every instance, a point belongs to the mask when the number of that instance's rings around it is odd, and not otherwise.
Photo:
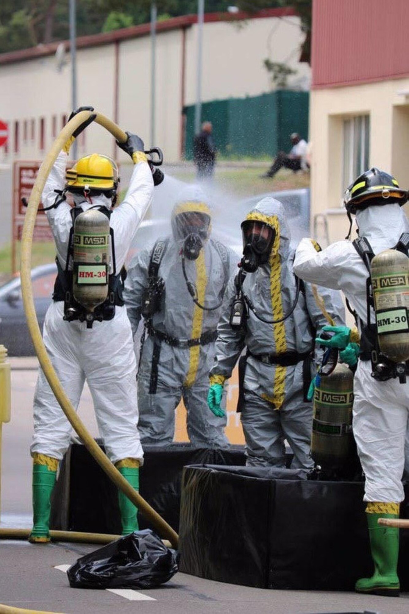
[[(356, 216), (359, 238), (353, 242), (338, 241), (323, 250), (311, 239), (302, 239), (294, 262), (295, 273), (300, 278), (342, 290), (355, 311), (360, 347), (354, 375), (353, 433), (365, 474), (365, 511), (375, 568), (373, 576), (360, 578), (355, 588), (358, 593), (391, 597), (399, 596), (399, 529), (380, 526), (378, 519), (398, 518), (404, 498), (402, 473), (409, 381), (406, 376), (402, 378), (404, 382), (400, 381), (397, 363), (380, 350), (373, 297), (367, 282), (374, 255), (394, 248), (407, 255), (409, 224), (401, 208), (407, 200), (407, 191), (399, 187), (391, 174), (378, 168), (365, 171), (349, 185), (344, 198), (351, 226), (351, 215)], [(395, 330), (393, 323), (390, 328), (397, 343), (399, 330), (408, 332), (406, 297), (405, 292), (395, 297), (384, 296), (385, 306), (396, 315)], [(351, 341), (350, 329), (345, 327), (326, 344), (343, 350), (351, 348)], [(409, 361), (404, 365), (401, 363), (407, 374)]]

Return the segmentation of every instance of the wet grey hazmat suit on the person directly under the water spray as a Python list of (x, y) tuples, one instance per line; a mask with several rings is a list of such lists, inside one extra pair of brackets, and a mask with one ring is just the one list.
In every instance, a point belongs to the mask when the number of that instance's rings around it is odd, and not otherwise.
[[(191, 213), (203, 214), (209, 220), (211, 217), (206, 196), (194, 185), (185, 187), (179, 195), (171, 214), (172, 236), (163, 239), (166, 248), (157, 274), (165, 282), (165, 292), (158, 311), (146, 319), (138, 369), (138, 427), (142, 443), (168, 445), (174, 438), (174, 411), (183, 398), (190, 442), (225, 447), (226, 419), (209, 412), (206, 396), (222, 298), (239, 258), (230, 248), (209, 238), (210, 227), (205, 229), (198, 257), (185, 258), (184, 262), (197, 302), (206, 307), (201, 309), (187, 289), (182, 267), (186, 235), (192, 230), (184, 220), (185, 214)], [(152, 249), (142, 250), (128, 268), (124, 299), (133, 334), (149, 285), (151, 255)]]

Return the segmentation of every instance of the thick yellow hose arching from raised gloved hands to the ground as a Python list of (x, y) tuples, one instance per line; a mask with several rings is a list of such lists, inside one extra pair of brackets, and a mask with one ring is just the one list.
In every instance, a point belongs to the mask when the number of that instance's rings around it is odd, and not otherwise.
[[(24, 220), (23, 236), (21, 239), (20, 268), (23, 306), (26, 314), (28, 330), (33, 340), (34, 349), (36, 350), (39, 363), (68, 421), (76, 430), (90, 454), (92, 454), (100, 467), (103, 468), (107, 476), (109, 476), (116, 486), (120, 488), (125, 495), (127, 495), (128, 499), (130, 499), (131, 502), (138, 507), (141, 513), (150, 520), (155, 529), (157, 529), (158, 533), (162, 537), (168, 538), (172, 546), (177, 548), (177, 533), (168, 525), (168, 523), (165, 522), (165, 520), (163, 520), (160, 515), (158, 515), (158, 513), (152, 507), (150, 507), (149, 503), (147, 503), (146, 500), (144, 500), (141, 495), (134, 491), (130, 484), (128, 484), (127, 480), (123, 478), (117, 468), (111, 463), (111, 461), (109, 461), (101, 448), (99, 448), (98, 444), (95, 443), (93, 437), (91, 437), (90, 433), (88, 433), (84, 424), (82, 424), (82, 421), (77, 416), (74, 407), (72, 406), (68, 396), (61, 386), (58, 377), (56, 376), (52, 362), (47, 354), (47, 350), (45, 349), (34, 308), (33, 288), (31, 286), (31, 247), (33, 244), (34, 224), (36, 222), (37, 209), (41, 200), (42, 190), (56, 157), (58, 156), (58, 153), (60, 153), (64, 143), (72, 136), (77, 128), (90, 119), (90, 115), (93, 114), (95, 113), (90, 111), (80, 111), (64, 126), (63, 130), (61, 130), (60, 134), (55, 139), (49, 153), (47, 153), (47, 156), (42, 162), (37, 179), (33, 185), (33, 190), (31, 190)], [(106, 130), (109, 131), (117, 141), (124, 142), (127, 140), (127, 134), (125, 134), (125, 132), (121, 130), (114, 122), (109, 120), (107, 117), (104, 117), (104, 115), (96, 113), (94, 121), (103, 126), (103, 128), (106, 128)]]

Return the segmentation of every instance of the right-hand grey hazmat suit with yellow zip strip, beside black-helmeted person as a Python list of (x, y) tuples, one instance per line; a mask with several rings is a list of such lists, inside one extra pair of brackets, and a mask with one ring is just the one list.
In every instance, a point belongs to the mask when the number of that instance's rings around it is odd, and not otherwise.
[[(259, 220), (275, 228), (276, 236), (268, 263), (247, 273), (244, 293), (252, 301), (257, 314), (267, 321), (279, 320), (289, 313), (296, 296), (296, 279), (290, 249), (290, 231), (284, 207), (274, 198), (263, 198), (247, 220)], [(266, 324), (249, 310), (244, 330), (230, 326), (230, 310), (236, 296), (235, 278), (230, 279), (217, 326), (216, 356), (210, 373), (227, 379), (244, 347), (247, 348), (244, 375), (244, 407), (241, 424), (246, 439), (247, 465), (285, 466), (286, 438), (293, 453), (292, 468), (310, 468), (312, 403), (304, 400), (303, 362), (297, 356), (292, 365), (268, 364), (255, 356), (288, 356), (289, 352), (310, 353), (316, 331), (328, 324), (316, 304), (311, 286), (305, 284), (293, 313), (283, 322)], [(335, 322), (341, 324), (344, 309), (338, 293), (318, 288), (325, 306)], [(308, 359), (307, 359), (308, 360)], [(312, 368), (311, 368), (312, 367)], [(308, 365), (306, 386), (315, 375), (314, 365)]]

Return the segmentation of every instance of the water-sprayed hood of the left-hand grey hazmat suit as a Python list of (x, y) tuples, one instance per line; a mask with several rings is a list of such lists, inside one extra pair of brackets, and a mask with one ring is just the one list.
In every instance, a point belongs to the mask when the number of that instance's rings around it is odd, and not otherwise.
[(200, 213), (204, 216), (208, 216), (208, 227), (206, 236), (201, 236), (204, 243), (209, 238), (211, 233), (211, 208), (208, 204), (208, 198), (204, 194), (203, 190), (198, 185), (186, 185), (179, 193), (176, 203), (174, 204), (171, 215), (171, 227), (173, 238), (175, 241), (184, 241), (189, 228), (184, 227), (183, 215), (176, 220), (179, 214), (184, 213)]

